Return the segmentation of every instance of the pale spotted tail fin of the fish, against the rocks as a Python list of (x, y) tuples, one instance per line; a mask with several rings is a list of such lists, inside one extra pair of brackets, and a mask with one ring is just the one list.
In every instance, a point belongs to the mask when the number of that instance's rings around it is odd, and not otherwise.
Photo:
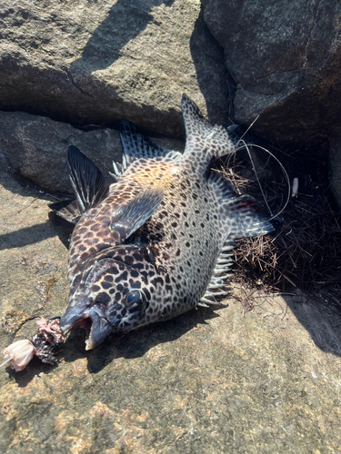
[(209, 161), (212, 156), (221, 157), (235, 152), (235, 146), (226, 129), (208, 123), (186, 94), (182, 96), (181, 106), (186, 128), (185, 157), (192, 153), (205, 152), (206, 160)]

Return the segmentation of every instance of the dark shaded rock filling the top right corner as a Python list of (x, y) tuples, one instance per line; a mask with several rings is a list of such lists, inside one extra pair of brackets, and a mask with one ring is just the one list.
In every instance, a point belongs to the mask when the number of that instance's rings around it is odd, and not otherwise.
[(341, 122), (341, 6), (337, 0), (202, 0), (236, 81), (236, 123), (267, 140), (326, 141)]

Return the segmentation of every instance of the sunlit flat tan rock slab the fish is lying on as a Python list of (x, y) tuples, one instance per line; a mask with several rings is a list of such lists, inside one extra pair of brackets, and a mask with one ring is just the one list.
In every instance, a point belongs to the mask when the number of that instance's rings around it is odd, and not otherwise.
[[(0, 348), (66, 306), (68, 232), (2, 171)], [(286, 298), (286, 300), (284, 299)], [(302, 297), (231, 298), (109, 337), (75, 330), (55, 367), (0, 370), (4, 453), (335, 453), (341, 317)]]

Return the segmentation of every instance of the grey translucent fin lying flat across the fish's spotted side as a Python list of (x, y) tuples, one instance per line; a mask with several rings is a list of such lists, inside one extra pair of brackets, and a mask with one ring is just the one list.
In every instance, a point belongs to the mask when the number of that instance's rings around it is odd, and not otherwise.
[(121, 241), (125, 241), (150, 218), (162, 202), (164, 193), (163, 187), (147, 189), (114, 213), (111, 229), (120, 232)]

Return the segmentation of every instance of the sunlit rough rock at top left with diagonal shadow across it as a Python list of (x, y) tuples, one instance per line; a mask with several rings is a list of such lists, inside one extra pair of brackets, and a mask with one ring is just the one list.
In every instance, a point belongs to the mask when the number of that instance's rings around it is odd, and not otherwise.
[(224, 123), (224, 58), (199, 14), (200, 0), (5, 0), (0, 107), (176, 137), (186, 92)]

